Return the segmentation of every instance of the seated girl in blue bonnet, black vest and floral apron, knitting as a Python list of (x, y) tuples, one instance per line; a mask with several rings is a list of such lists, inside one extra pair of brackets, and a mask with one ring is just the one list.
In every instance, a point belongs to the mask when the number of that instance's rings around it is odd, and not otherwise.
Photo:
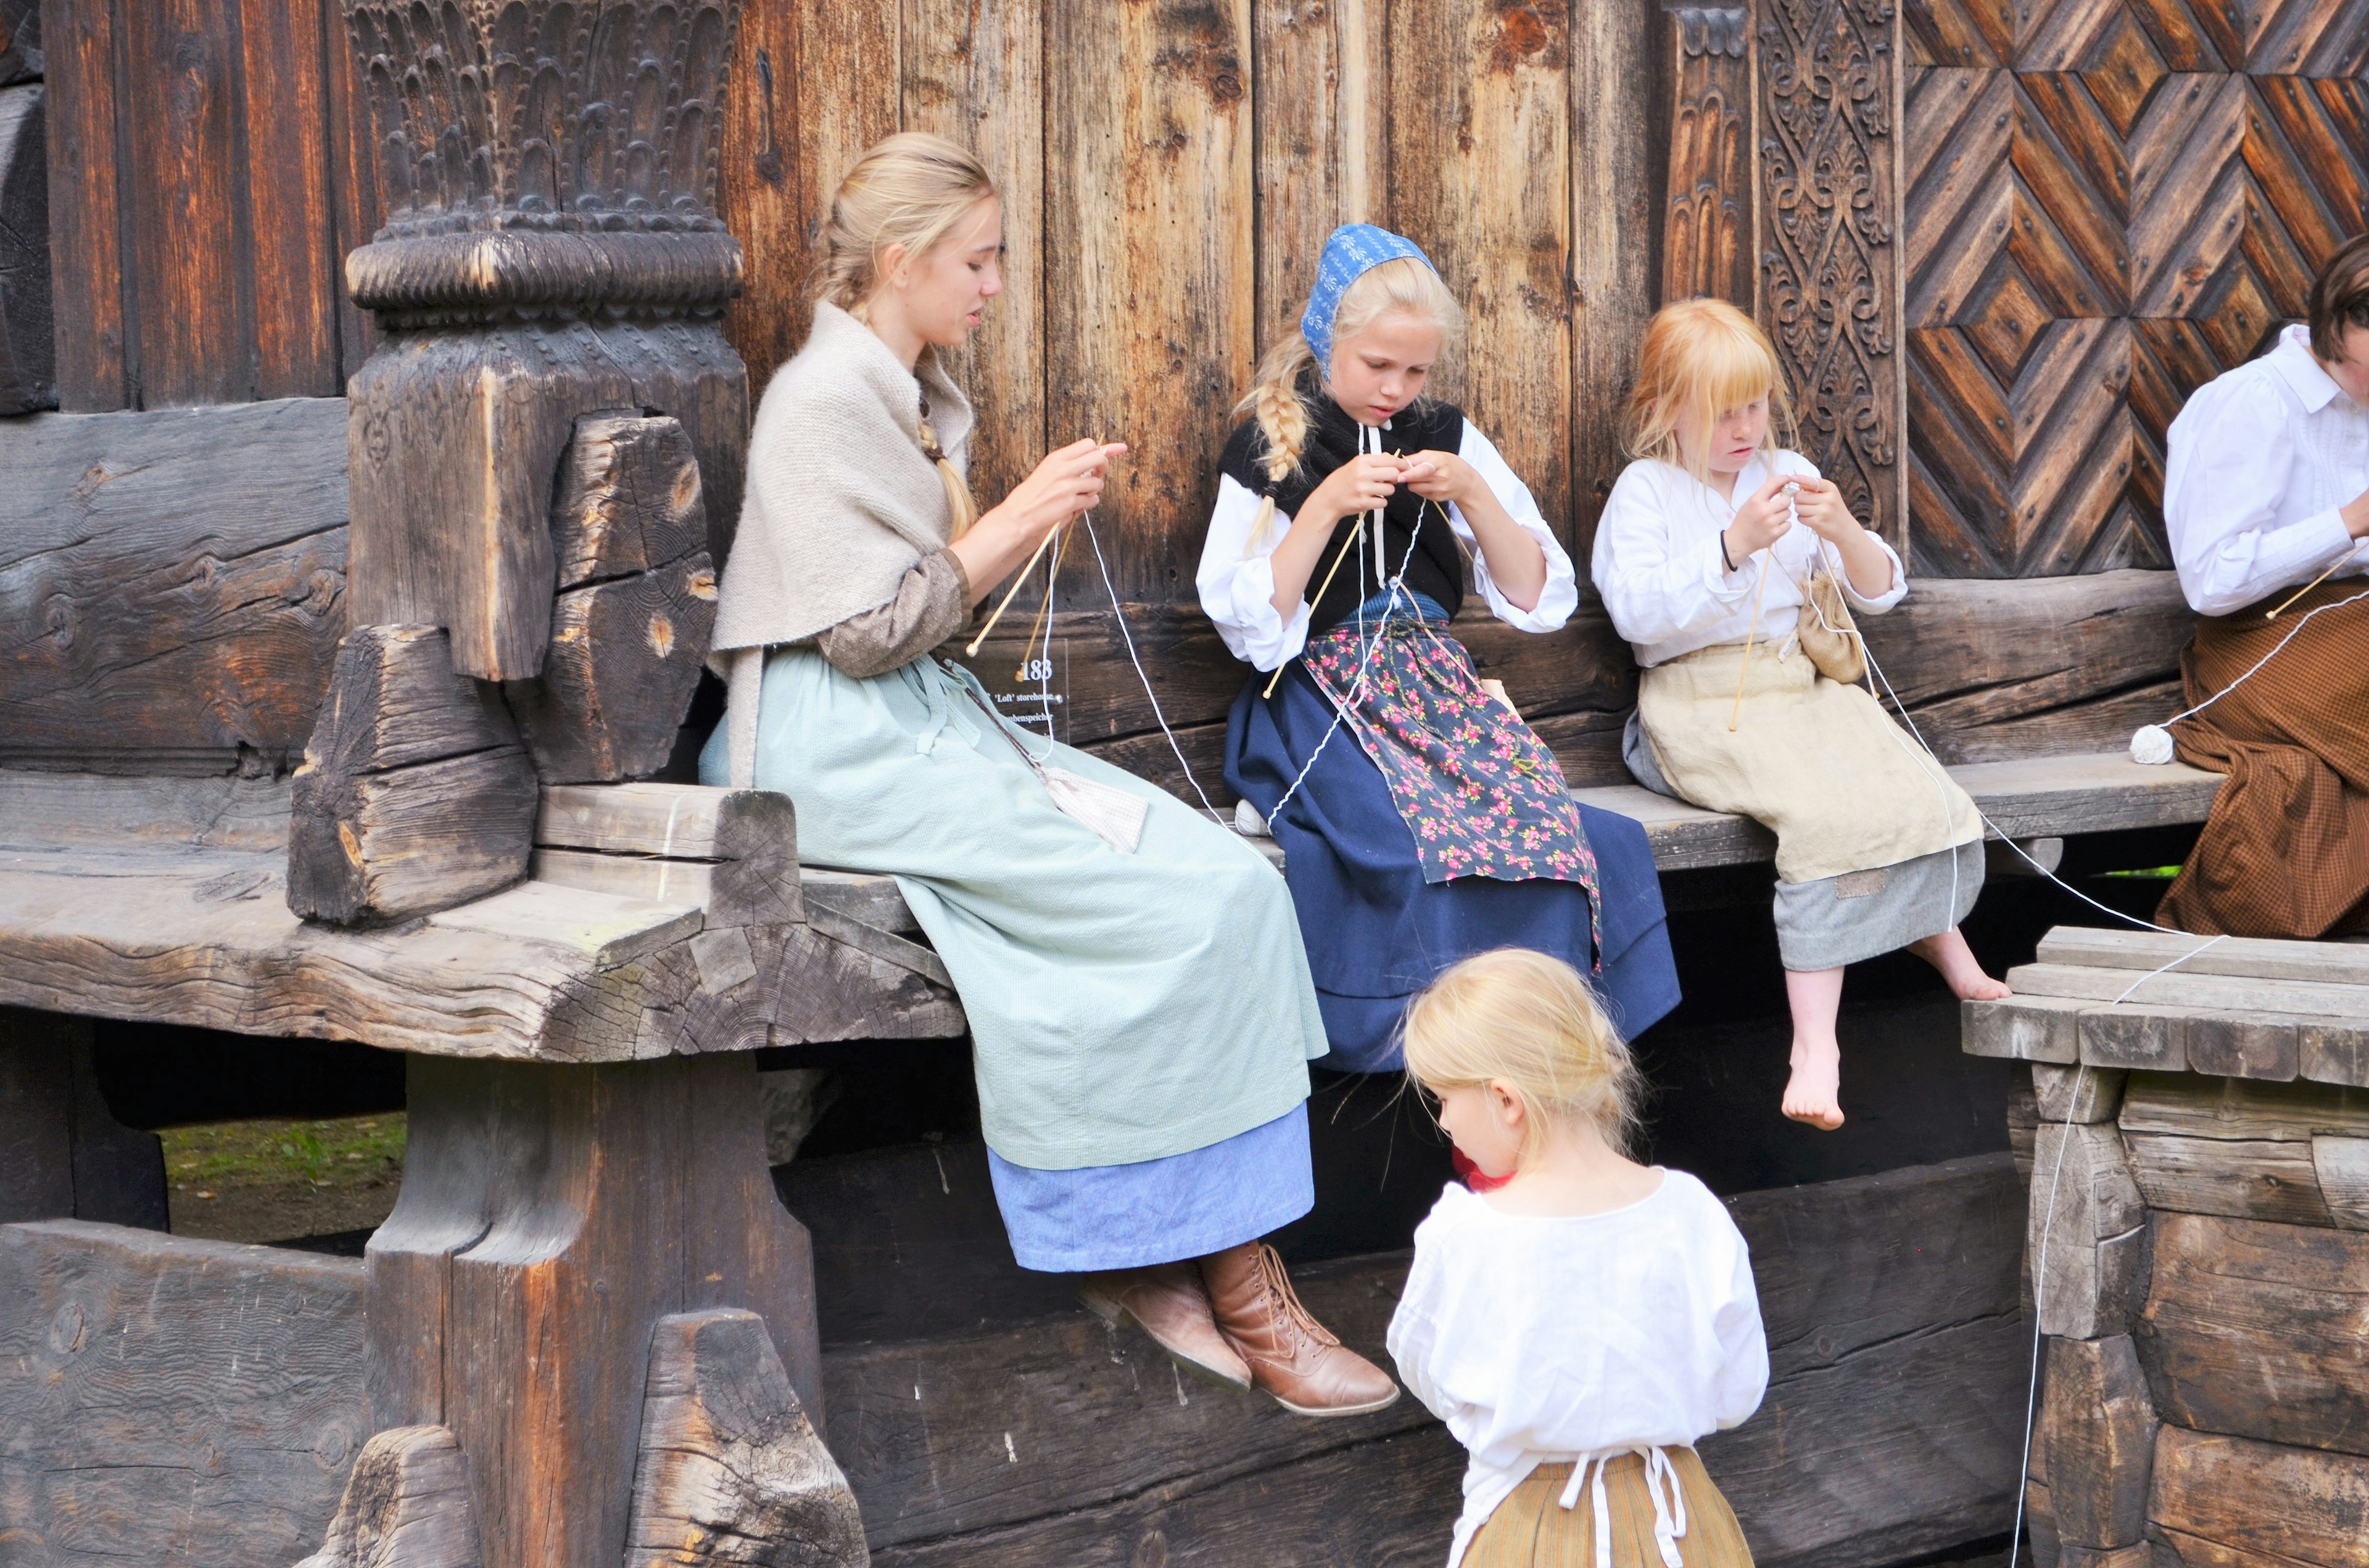
[(1466, 550), (1514, 628), (1578, 604), (1530, 490), (1421, 396), (1459, 327), (1412, 242), (1336, 230), (1241, 403), (1201, 552), (1201, 609), (1258, 670), (1225, 777), (1284, 846), (1322, 1066), (1357, 1073), (1398, 1066), (1398, 1018), (1440, 969), (1509, 943), (1590, 973), (1632, 1033), (1677, 1004), (1644, 829), (1571, 801), (1447, 630)]

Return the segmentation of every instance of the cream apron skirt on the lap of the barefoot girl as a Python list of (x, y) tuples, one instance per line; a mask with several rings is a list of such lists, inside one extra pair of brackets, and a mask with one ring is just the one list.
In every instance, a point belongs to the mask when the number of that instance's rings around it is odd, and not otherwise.
[(1862, 687), (1826, 680), (1791, 644), (1755, 642), (1748, 668), (1739, 642), (1654, 666), (1637, 687), (1637, 722), (1670, 789), (1777, 834), (1784, 881), (1869, 872), (1983, 836), (1973, 801), (1943, 765)]

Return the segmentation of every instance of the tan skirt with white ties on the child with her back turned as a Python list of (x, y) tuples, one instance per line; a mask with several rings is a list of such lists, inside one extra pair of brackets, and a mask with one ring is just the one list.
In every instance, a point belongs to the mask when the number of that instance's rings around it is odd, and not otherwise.
[[(1753, 1568), (1736, 1511), (1720, 1497), (1691, 1447), (1663, 1450), (1687, 1504), (1687, 1532), (1673, 1540), (1684, 1568)], [(1592, 1480), (1592, 1478), (1590, 1478)], [(1639, 1454), (1604, 1466), (1604, 1516), (1611, 1521), (1611, 1561), (1597, 1561), (1594, 1485), (1578, 1506), (1561, 1506), (1568, 1464), (1542, 1464), (1497, 1504), (1464, 1549), (1459, 1568), (1665, 1568), (1654, 1540), (1654, 1495)], [(1665, 1504), (1668, 1506), (1668, 1504)]]

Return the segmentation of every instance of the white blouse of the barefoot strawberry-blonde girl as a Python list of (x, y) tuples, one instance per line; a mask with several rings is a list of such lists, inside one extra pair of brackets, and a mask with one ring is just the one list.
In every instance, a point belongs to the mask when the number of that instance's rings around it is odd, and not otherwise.
[[(1751, 500), (1772, 474), (1817, 478), (1817, 464), (1800, 452), (1755, 455), (1736, 474), (1734, 500), (1684, 469), (1642, 457), (1620, 471), (1613, 493), (1604, 497), (1597, 521), (1597, 550), (1590, 576), (1604, 595), (1613, 628), (1637, 651), (1637, 666), (1668, 663), (1694, 649), (1744, 642), (1753, 635), (1753, 597), (1760, 597), (1760, 630), (1772, 647), (1781, 644), (1800, 618), (1800, 590), (1819, 561), (1819, 538), (1808, 523), (1793, 523), (1765, 552), (1755, 550), (1727, 571), (1720, 533), (1736, 521), (1736, 502)], [(1879, 538), (1893, 564), (1893, 583), (1869, 599), (1850, 585), (1838, 552), (1826, 552), (1826, 571), (1843, 585), (1853, 611), (1881, 616), (1909, 592), (1907, 573), (1890, 545)], [(1774, 552), (1767, 587), (1760, 587), (1760, 557)]]

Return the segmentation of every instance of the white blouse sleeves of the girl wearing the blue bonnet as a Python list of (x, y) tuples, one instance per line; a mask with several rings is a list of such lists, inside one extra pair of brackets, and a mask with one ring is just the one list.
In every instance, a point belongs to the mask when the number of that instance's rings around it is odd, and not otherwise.
[[(1578, 571), (1571, 566), (1571, 552), (1564, 550), (1554, 531), (1547, 528), (1547, 519), (1540, 516), (1530, 486), (1521, 483), (1521, 476), (1490, 445), (1490, 438), (1474, 429), (1471, 419), (1464, 422), (1457, 457), (1474, 467), (1481, 483), (1497, 497), (1497, 505), (1507, 509), (1507, 516), (1547, 552), (1547, 585), (1537, 595), (1537, 606), (1521, 609), (1490, 578), (1488, 557), (1474, 547), (1474, 526), (1464, 521), (1464, 509), (1450, 502), (1447, 526), (1474, 550), (1474, 587), (1481, 590), (1490, 611), (1507, 625), (1526, 632), (1561, 628), (1571, 618), (1571, 611), (1580, 606)], [(1301, 595), (1291, 621), (1275, 613), (1272, 557), (1291, 528), (1291, 516), (1277, 512), (1267, 538), (1253, 550), (1251, 531), (1256, 523), (1258, 495), (1230, 476), (1218, 478), (1218, 505), (1211, 509), (1208, 542), (1201, 545), (1201, 571), (1194, 573), (1194, 585), (1201, 590), (1201, 609), (1218, 623), (1218, 635), (1225, 637), (1225, 647), (1232, 649), (1234, 658), (1260, 670), (1272, 670), (1296, 658), (1308, 644), (1308, 595)], [(1346, 519), (1343, 526), (1355, 526), (1355, 519)], [(1457, 606), (1447, 604), (1443, 609), (1455, 613)]]

